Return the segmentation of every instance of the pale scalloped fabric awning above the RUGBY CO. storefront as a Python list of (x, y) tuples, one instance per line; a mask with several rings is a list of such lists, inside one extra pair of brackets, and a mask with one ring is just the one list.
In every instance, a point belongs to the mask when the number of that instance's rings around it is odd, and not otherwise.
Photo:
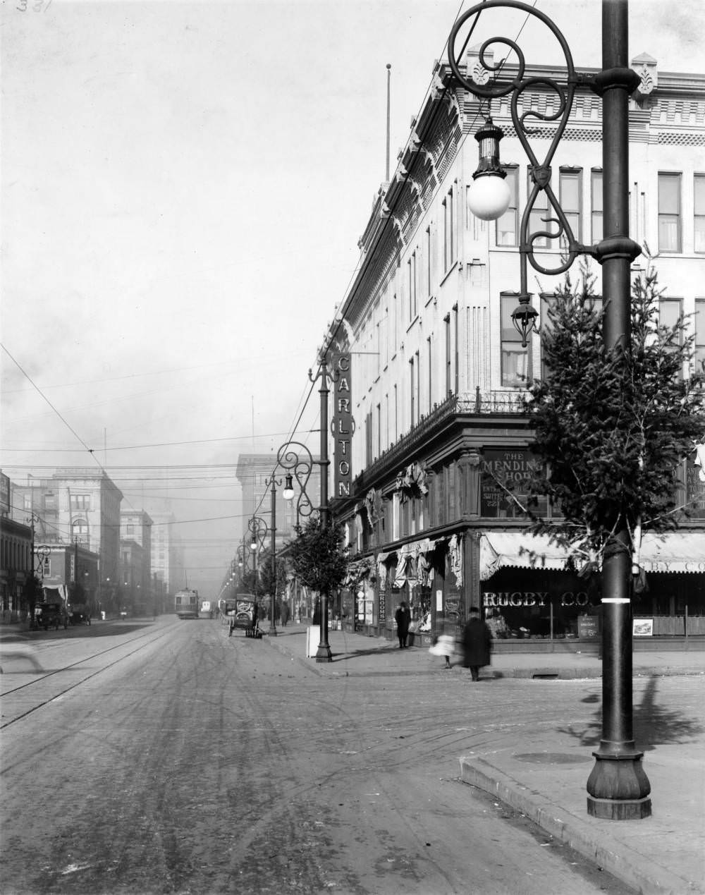
[[(500, 568), (565, 569), (569, 552), (546, 535), (492, 532), (480, 538), (480, 580)], [(645, 572), (705, 574), (705, 532), (648, 533), (641, 541), (640, 565)]]

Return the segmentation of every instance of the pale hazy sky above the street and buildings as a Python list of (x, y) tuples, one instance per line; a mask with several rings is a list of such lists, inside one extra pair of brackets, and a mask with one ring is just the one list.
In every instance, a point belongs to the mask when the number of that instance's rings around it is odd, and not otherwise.
[[(216, 588), (242, 532), (237, 456), (287, 439), (358, 261), (386, 64), (394, 170), (470, 6), (4, 3), (5, 473), (98, 460), (123, 508), (168, 494), (190, 583)], [(599, 0), (537, 6), (578, 67), (599, 66)], [(631, 0), (630, 20), (631, 55), (703, 70), (700, 0)], [(295, 436), (314, 452), (318, 408), (314, 391)]]

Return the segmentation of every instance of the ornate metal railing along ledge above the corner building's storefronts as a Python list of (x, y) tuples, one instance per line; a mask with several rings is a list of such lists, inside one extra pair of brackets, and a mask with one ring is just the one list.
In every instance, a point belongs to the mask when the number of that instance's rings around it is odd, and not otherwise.
[(415, 447), (445, 425), (455, 416), (472, 416), (475, 414), (525, 414), (524, 391), (488, 391), (481, 393), (480, 388), (475, 390), (475, 396), (448, 395), (445, 401), (434, 405), (433, 409), (421, 416), (419, 422), (403, 435), (395, 444), (387, 447), (378, 458), (371, 463), (364, 472), (355, 477), (353, 492), (361, 493), (365, 490), (365, 482), (371, 482), (378, 473), (388, 466), (403, 463)]

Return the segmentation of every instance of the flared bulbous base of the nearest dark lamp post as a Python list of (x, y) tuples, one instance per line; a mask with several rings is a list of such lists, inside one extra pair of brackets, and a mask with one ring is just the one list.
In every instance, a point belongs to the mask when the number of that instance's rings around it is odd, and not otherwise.
[(588, 778), (588, 814), (608, 821), (651, 816), (651, 786), (641, 767), (641, 752), (600, 754)]

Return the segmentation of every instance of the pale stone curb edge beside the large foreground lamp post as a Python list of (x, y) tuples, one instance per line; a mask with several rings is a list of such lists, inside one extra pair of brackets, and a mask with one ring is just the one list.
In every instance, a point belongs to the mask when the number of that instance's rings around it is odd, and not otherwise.
[[(673, 873), (648, 857), (634, 851), (618, 839), (618, 826), (610, 835), (595, 829), (590, 822), (576, 817), (554, 805), (550, 798), (514, 780), (486, 759), (461, 756), (460, 777), (463, 783), (475, 786), (495, 796), (515, 810), (525, 814), (533, 823), (554, 839), (574, 848), (583, 857), (607, 870), (617, 879), (633, 886), (641, 895), (701, 895), (705, 890), (684, 877)], [(587, 790), (586, 817), (587, 817)], [(604, 822), (599, 822), (604, 823)], [(612, 821), (611, 824), (630, 823)], [(631, 823), (650, 823), (649, 820)], [(612, 831), (612, 827), (610, 827)], [(617, 850), (618, 849), (618, 850)]]

